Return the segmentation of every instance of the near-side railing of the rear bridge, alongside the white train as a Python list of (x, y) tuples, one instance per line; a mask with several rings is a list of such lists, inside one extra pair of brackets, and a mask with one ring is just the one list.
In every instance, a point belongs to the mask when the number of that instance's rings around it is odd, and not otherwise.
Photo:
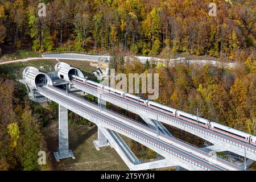
[[(92, 89), (86, 88), (87, 85), (85, 86), (85, 83), (84, 83), (84, 82), (81, 83), (81, 82), (79, 82), (79, 81), (77, 81), (77, 80), (73, 80), (73, 81), (75, 81), (75, 84), (78, 84), (78, 85), (80, 86), (80, 88), (84, 88), (84, 89), (89, 90), (90, 92), (93, 92), (93, 93), (98, 94), (98, 90), (96, 91), (96, 90), (92, 90)], [(73, 82), (73, 84), (74, 84), (74, 82)], [(108, 91), (108, 92), (109, 92), (109, 91)], [(111, 92), (109, 92), (109, 93), (111, 93)], [(189, 128), (191, 128), (191, 129), (193, 129), (193, 130), (199, 131), (200, 133), (207, 134), (207, 135), (209, 135), (209, 136), (211, 136), (211, 137), (214, 137), (214, 138), (216, 138), (216, 139), (220, 139), (220, 140), (222, 140), (222, 141), (224, 141), (224, 142), (233, 144), (233, 145), (235, 145), (235, 146), (238, 146), (238, 147), (241, 147), (241, 148), (246, 148), (247, 150), (249, 150), (249, 151), (251, 151), (251, 152), (254, 152), (254, 153), (256, 154), (256, 150), (254, 150), (251, 146), (245, 146), (245, 144), (241, 144), (241, 143), (239, 143), (238, 141), (236, 141), (236, 140), (234, 140), (234, 139), (231, 139), (231, 138), (228, 138), (228, 137), (226, 137), (226, 136), (225, 136), (225, 137), (224, 137), (224, 136), (221, 136), (221, 134), (218, 134), (218, 133), (216, 133), (215, 131), (208, 131), (208, 130), (204, 129), (204, 128), (201, 127), (201, 126), (198, 126), (198, 125), (195, 126), (195, 124), (193, 124), (193, 123), (189, 123), (189, 124), (188, 124), (187, 122), (182, 121), (182, 120), (177, 119), (177, 118), (174, 118), (174, 117), (172, 117), (171, 115), (168, 115), (168, 117), (167, 117), (167, 116), (165, 116), (164, 114), (156, 114), (156, 113), (154, 113), (153, 111), (144, 109), (143, 107), (138, 107), (138, 106), (136, 106), (136, 105), (130, 104), (130, 103), (127, 102), (127, 101), (120, 100), (120, 99), (118, 99), (118, 98), (112, 97), (112, 96), (110, 96), (109, 94), (106, 94), (106, 93), (101, 93), (101, 95), (102, 95), (102, 96), (105, 96), (105, 97), (108, 97), (108, 98), (110, 98), (110, 99), (112, 99), (112, 100), (114, 100), (114, 101), (121, 102), (122, 104), (126, 104), (126, 105), (128, 105), (128, 106), (135, 107), (136, 109), (139, 109), (139, 110), (142, 110), (142, 111), (146, 111), (147, 113), (150, 113), (150, 114), (153, 114), (153, 115), (157, 115), (157, 116), (159, 117), (159, 119), (160, 119), (160, 118), (166, 119), (166, 120), (168, 120), (168, 121), (170, 121), (170, 122), (174, 122), (174, 123), (176, 123), (176, 124), (178, 124), (178, 125), (181, 125), (181, 126), (189, 127)]]

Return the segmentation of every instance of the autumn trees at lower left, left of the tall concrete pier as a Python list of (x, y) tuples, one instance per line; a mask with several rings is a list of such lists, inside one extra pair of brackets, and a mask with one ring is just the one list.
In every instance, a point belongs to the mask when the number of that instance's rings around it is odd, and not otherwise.
[(0, 171), (48, 170), (37, 163), (38, 152), (47, 150), (31, 101), (15, 81), (0, 76)]

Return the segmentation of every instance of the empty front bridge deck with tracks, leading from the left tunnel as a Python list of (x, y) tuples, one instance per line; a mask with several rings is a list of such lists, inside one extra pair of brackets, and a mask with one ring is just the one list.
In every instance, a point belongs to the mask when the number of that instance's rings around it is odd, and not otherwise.
[[(192, 151), (191, 148), (182, 150), (181, 148), (174, 146), (174, 140), (167, 142), (170, 139), (164, 139), (163, 136), (156, 137), (156, 134), (154, 131), (152, 131), (152, 129), (146, 128), (145, 126), (142, 127), (142, 125), (139, 123), (133, 123), (133, 125), (131, 125), (131, 121), (119, 121), (119, 115), (117, 116), (110, 111), (101, 111), (102, 109), (99, 107), (95, 105), (92, 106), (91, 103), (86, 102), (85, 100), (82, 101), (79, 97), (70, 96), (64, 91), (61, 92), (60, 89), (53, 87), (39, 87), (38, 90), (43, 96), (57, 102), (60, 105), (63, 105), (64, 107), (67, 107), (67, 109), (74, 111), (82, 117), (89, 119), (90, 121), (96, 123), (96, 125), (100, 125), (101, 127), (105, 127), (126, 135), (131, 139), (137, 140), (137, 142), (144, 144), (165, 158), (172, 160), (176, 159), (176, 162), (179, 163), (177, 166), (188, 169), (206, 170), (222, 170), (224, 168), (236, 170), (239, 168), (229, 163), (222, 163), (220, 161), (212, 160), (207, 155), (203, 156), (203, 154), (200, 154), (197, 156), (198, 154), (196, 155), (196, 151)], [(112, 117), (109, 115), (112, 115)], [(211, 163), (217, 163), (218, 165)]]

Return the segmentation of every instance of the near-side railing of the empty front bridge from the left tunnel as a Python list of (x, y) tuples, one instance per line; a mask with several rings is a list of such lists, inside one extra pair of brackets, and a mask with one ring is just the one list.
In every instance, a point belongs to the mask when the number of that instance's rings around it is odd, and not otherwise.
[[(207, 164), (204, 164), (203, 162), (199, 162), (196, 158), (189, 158), (188, 156), (185, 156), (184, 154), (181, 154), (179, 151), (177, 151), (176, 149), (174, 148), (170, 148), (168, 146), (164, 146), (163, 144), (160, 144), (160, 143), (157, 143), (155, 142), (154, 140), (152, 139), (149, 139), (147, 137), (144, 137), (142, 136), (142, 134), (139, 134), (138, 132), (136, 133), (135, 131), (131, 131), (113, 121), (110, 121), (109, 118), (106, 118), (104, 116), (102, 117), (99, 117), (98, 115), (96, 115), (95, 113), (92, 113), (90, 111), (88, 111), (88, 108), (86, 108), (85, 106), (82, 106), (81, 104), (71, 104), (71, 102), (73, 101), (65, 101), (66, 99), (64, 97), (60, 97), (60, 96), (57, 96), (56, 93), (51, 93), (49, 92), (49, 90), (43, 88), (43, 87), (38, 87), (38, 90), (39, 92), (43, 93), (46, 95), (46, 97), (51, 97), (51, 100), (57, 100), (59, 102), (62, 102), (64, 105), (68, 105), (68, 106), (71, 106), (79, 111), (81, 111), (82, 113), (85, 113), (85, 114), (88, 114), (90, 117), (93, 117), (93, 118), (96, 118), (102, 122), (105, 122), (107, 123), (109, 126), (113, 126), (115, 127), (116, 129), (120, 130), (120, 131), (123, 131), (137, 139), (140, 139), (148, 144), (151, 144), (151, 146), (154, 146), (154, 147), (157, 147), (165, 152), (168, 152), (169, 154), (171, 155), (174, 155), (176, 156), (177, 158), (180, 158), (182, 160), (185, 160), (186, 162), (188, 163), (191, 163), (197, 167), (200, 167), (204, 170), (217, 170), (217, 168), (214, 168), (214, 167), (209, 167)], [(53, 95), (53, 94), (56, 94), (56, 95)], [(86, 110), (87, 109), (87, 110)], [(103, 119), (105, 118), (105, 119)], [(169, 145), (169, 144), (168, 144)]]

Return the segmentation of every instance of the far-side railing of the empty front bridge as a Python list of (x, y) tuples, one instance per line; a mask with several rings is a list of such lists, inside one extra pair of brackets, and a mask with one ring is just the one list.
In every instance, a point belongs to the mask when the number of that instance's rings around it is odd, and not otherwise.
[[(181, 139), (178, 139), (178, 138), (175, 138), (175, 137), (169, 137), (168, 135), (165, 135), (165, 134), (162, 134), (162, 133), (158, 133), (157, 131), (155, 131), (154, 129), (151, 129), (150, 127), (148, 127), (147, 125), (144, 125), (143, 123), (141, 122), (138, 122), (136, 121), (135, 119), (131, 119), (129, 117), (126, 117), (125, 115), (121, 115), (119, 113), (117, 113), (116, 111), (113, 111), (113, 110), (110, 110), (110, 109), (107, 109), (107, 108), (99, 108), (98, 105), (96, 105), (94, 102), (90, 102), (88, 100), (85, 100), (84, 98), (81, 98), (79, 96), (77, 96), (77, 94), (73, 94), (73, 93), (69, 93), (69, 92), (65, 92), (63, 89), (60, 89), (60, 88), (56, 88), (56, 87), (52, 87), (52, 86), (48, 86), (49, 88), (53, 88), (55, 90), (59, 90), (61, 93), (64, 93), (64, 94), (67, 94), (68, 96), (76, 99), (76, 100), (79, 100), (81, 102), (86, 102), (85, 104), (89, 104), (93, 107), (97, 107), (98, 109), (101, 109), (102, 111), (106, 111), (107, 113), (110, 113), (110, 114), (115, 114), (117, 115), (119, 118), (122, 118), (122, 119), (125, 119), (127, 122), (133, 122), (135, 125), (139, 126), (139, 127), (142, 127), (143, 129), (146, 129), (147, 131), (151, 131), (152, 133), (156, 134), (156, 135), (160, 135), (161, 137), (163, 138), (166, 138), (167, 140), (171, 140), (172, 142), (176, 142), (178, 144), (181, 144), (187, 148), (189, 148), (190, 150), (193, 150), (193, 151), (196, 151), (196, 152), (199, 152), (200, 154), (203, 154), (203, 155), (207, 155), (207, 156), (212, 156), (209, 154), (209, 152), (205, 152), (203, 150), (201, 150), (201, 148), (195, 146), (195, 145), (192, 145), (191, 143), (188, 143), (188, 142), (185, 142), (184, 140), (181, 140)], [(221, 163), (224, 163), (228, 166), (231, 166), (231, 167), (234, 167), (236, 169), (242, 169), (241, 166), (237, 166), (236, 164), (233, 164), (231, 162), (228, 162), (227, 160), (225, 160), (224, 158), (221, 158), (220, 156), (213, 156), (218, 162), (221, 162)]]

